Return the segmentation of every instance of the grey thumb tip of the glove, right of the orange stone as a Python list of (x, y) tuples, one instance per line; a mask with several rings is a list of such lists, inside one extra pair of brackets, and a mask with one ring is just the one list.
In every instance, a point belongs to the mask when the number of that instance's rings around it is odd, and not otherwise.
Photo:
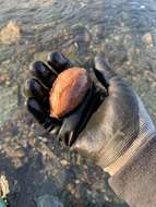
[[(106, 61), (104, 54), (99, 54), (94, 59), (95, 72), (99, 81), (104, 82), (104, 84), (109, 85), (109, 81), (116, 76), (115, 71), (109, 66), (109, 63)], [(101, 75), (103, 76), (101, 76)]]

